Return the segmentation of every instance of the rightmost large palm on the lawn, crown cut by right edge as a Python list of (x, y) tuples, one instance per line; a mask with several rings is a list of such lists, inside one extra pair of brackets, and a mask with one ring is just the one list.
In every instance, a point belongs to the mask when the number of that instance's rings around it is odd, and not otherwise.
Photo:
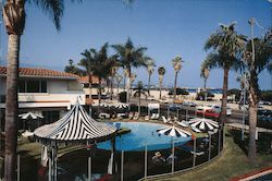
[[(250, 22), (252, 23), (252, 22)], [(257, 110), (260, 100), (260, 89), (258, 76), (264, 70), (272, 73), (272, 32), (264, 38), (255, 38), (247, 41), (244, 51), (244, 62), (246, 71), (249, 73), (249, 148), (248, 157), (252, 164), (256, 164), (256, 124)]]

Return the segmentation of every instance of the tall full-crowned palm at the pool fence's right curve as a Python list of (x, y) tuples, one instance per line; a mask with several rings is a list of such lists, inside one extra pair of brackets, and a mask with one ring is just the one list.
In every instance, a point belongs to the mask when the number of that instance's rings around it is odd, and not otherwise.
[(240, 61), (238, 55), (245, 45), (245, 36), (238, 35), (235, 31), (235, 24), (220, 25), (220, 28), (211, 34), (205, 45), (205, 49), (212, 49), (202, 63), (205, 69), (222, 68), (224, 70), (223, 77), (223, 96), (222, 96), (222, 111), (221, 123), (226, 120), (226, 98), (227, 98), (227, 82), (228, 72), (231, 69), (238, 69)]

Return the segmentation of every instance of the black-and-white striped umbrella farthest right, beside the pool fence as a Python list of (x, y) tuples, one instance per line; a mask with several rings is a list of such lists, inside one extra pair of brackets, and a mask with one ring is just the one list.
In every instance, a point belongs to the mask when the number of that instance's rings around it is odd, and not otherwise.
[(219, 128), (219, 123), (206, 118), (194, 118), (188, 121), (191, 128), (198, 128), (199, 130), (212, 131)]

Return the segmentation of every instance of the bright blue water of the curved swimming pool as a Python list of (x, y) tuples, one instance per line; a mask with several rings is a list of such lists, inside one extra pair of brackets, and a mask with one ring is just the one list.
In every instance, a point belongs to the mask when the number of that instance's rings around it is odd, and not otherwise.
[[(116, 136), (116, 150), (145, 150), (147, 145), (148, 150), (166, 149), (172, 146), (172, 137), (157, 133), (157, 130), (166, 125), (147, 122), (115, 122), (114, 125), (120, 124), (120, 128), (127, 128), (129, 133)], [(173, 137), (175, 146), (183, 145), (190, 141), (188, 137)], [(111, 149), (110, 141), (98, 143), (97, 147), (100, 149)]]

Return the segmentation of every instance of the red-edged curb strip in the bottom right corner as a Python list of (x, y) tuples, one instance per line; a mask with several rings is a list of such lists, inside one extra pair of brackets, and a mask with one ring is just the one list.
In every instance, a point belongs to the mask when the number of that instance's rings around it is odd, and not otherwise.
[(250, 181), (259, 177), (272, 173), (272, 166), (262, 168), (260, 170), (251, 171), (249, 173), (232, 178), (230, 181)]

